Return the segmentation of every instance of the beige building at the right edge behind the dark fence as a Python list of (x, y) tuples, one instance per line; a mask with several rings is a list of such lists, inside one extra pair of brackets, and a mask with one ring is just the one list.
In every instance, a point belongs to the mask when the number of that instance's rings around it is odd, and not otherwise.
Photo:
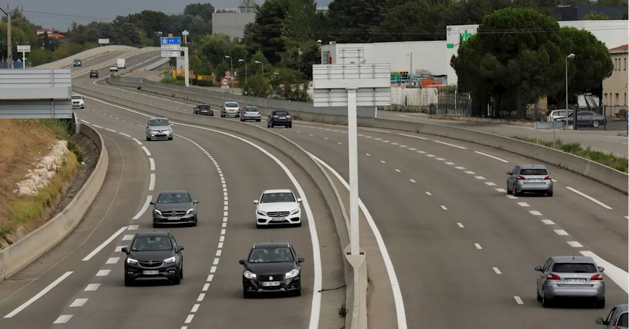
[(611, 48), (610, 55), (611, 61), (614, 63), (614, 70), (610, 77), (603, 80), (603, 105), (629, 105), (629, 99), (627, 99), (629, 93), (629, 70), (627, 70), (629, 44)]

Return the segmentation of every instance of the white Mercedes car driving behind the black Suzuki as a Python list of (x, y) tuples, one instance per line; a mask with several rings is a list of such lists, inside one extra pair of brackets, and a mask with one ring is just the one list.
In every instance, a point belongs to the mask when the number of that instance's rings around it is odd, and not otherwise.
[(253, 200), (255, 226), (301, 226), (301, 199), (290, 189), (267, 189), (259, 200)]

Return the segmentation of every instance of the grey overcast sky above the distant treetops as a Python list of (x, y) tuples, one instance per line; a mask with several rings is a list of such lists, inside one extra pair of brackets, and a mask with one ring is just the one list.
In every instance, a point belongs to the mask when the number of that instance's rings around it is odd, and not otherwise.
[[(118, 15), (139, 13), (145, 9), (163, 11), (167, 14), (180, 14), (186, 4), (206, 3), (203, 0), (9, 0), (9, 6), (23, 6), (29, 20), (44, 28), (67, 30), (76, 21), (86, 24), (91, 21), (106, 21)], [(261, 3), (262, 0), (258, 0)], [(237, 8), (238, 0), (209, 1), (218, 8)], [(330, 0), (319, 0), (320, 6), (327, 6)], [(6, 6), (3, 4), (3, 6)]]

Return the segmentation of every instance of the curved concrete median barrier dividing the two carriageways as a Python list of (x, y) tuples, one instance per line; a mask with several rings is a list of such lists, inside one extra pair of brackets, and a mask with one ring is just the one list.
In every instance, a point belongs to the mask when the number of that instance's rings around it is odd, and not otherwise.
[[(345, 255), (345, 262), (343, 262), (343, 268), (345, 270), (345, 282), (347, 283), (345, 303), (348, 306), (348, 313), (345, 317), (345, 328), (365, 328), (365, 326), (359, 326), (360, 323), (358, 323), (358, 321), (352, 321), (352, 318), (355, 317), (353, 315), (354, 305), (364, 305), (365, 309), (361, 311), (364, 312), (362, 314), (366, 314), (366, 300), (364, 301), (364, 303), (355, 302), (355, 299), (360, 298), (361, 296), (365, 296), (365, 294), (354, 293), (356, 289), (360, 289), (360, 285), (355, 285), (353, 283), (355, 279), (355, 273), (352, 264), (349, 263), (347, 254), (345, 253), (345, 246), (349, 244), (349, 220), (347, 218), (347, 213), (345, 213), (345, 206), (343, 205), (343, 201), (340, 197), (338, 189), (333, 183), (331, 177), (328, 175), (328, 172), (326, 172), (326, 170), (323, 169), (323, 167), (321, 167), (318, 162), (312, 159), (309, 153), (306, 152), (306, 150), (300, 147), (297, 143), (294, 143), (288, 138), (280, 135), (279, 133), (275, 133), (274, 131), (264, 129), (260, 126), (252, 125), (250, 123), (240, 123), (239, 121), (233, 120), (216, 120), (216, 118), (206, 118), (189, 113), (170, 111), (169, 109), (159, 108), (157, 106), (141, 103), (139, 101), (133, 101), (131, 99), (111, 98), (111, 96), (109, 96), (108, 94), (100, 94), (99, 92), (92, 89), (86, 89), (77, 86), (74, 87), (74, 90), (84, 96), (106, 99), (108, 103), (116, 104), (118, 106), (125, 106), (127, 108), (131, 108), (154, 116), (167, 117), (175, 123), (186, 123), (190, 125), (204, 126), (221, 131), (230, 131), (231, 133), (236, 133), (237, 135), (244, 135), (250, 139), (258, 140), (261, 143), (267, 144), (294, 160), (296, 164), (298, 164), (299, 167), (301, 167), (301, 169), (303, 169), (304, 172), (311, 177), (312, 181), (316, 184), (316, 187), (318, 187), (319, 191), (321, 191), (321, 194), (323, 195), (323, 198), (328, 205), (328, 209), (330, 209), (334, 225), (337, 229), (338, 238), (342, 247), (342, 250), (339, 250), (339, 252)], [(321, 218), (315, 218), (315, 220), (321, 220)], [(364, 276), (366, 276), (366, 271), (364, 273)], [(360, 279), (363, 279), (364, 282), (366, 282), (367, 280), (366, 277), (361, 277)], [(350, 305), (352, 305), (352, 307), (349, 307)]]

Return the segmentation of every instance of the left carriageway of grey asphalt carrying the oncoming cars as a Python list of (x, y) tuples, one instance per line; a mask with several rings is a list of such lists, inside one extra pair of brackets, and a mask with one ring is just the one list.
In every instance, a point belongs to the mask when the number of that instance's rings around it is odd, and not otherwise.
[[(131, 57), (128, 66), (155, 55)], [(106, 69), (101, 69), (101, 77)], [(89, 80), (81, 75), (74, 84), (84, 86)], [(337, 308), (344, 291), (313, 291), (344, 283), (338, 238), (323, 197), (291, 159), (269, 145), (179, 125), (173, 141), (145, 142), (146, 116), (102, 101), (86, 99), (86, 109), (77, 113), (106, 140), (106, 185), (69, 238), (0, 282), (3, 328), (341, 326)], [(316, 228), (311, 216), (301, 228), (255, 228), (252, 200), (263, 189), (282, 187), (303, 191), (304, 210), (316, 216)], [(200, 201), (197, 227), (170, 228), (186, 247), (182, 284), (125, 287), (124, 254), (119, 250), (134, 233), (153, 230), (148, 201), (165, 189), (187, 189)], [(306, 259), (302, 296), (242, 299), (238, 260), (246, 258), (253, 243), (268, 240), (288, 240)], [(261, 308), (281, 313), (260, 316)]]

